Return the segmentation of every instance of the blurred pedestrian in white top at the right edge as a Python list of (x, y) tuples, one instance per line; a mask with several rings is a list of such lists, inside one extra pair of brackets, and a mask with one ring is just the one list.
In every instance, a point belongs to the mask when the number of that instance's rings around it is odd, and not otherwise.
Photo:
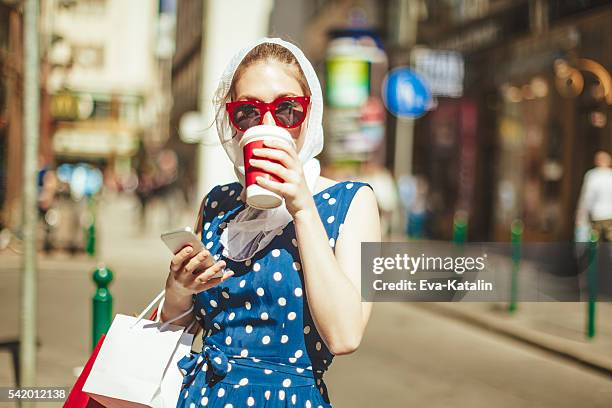
[(612, 242), (612, 156), (595, 154), (595, 167), (586, 172), (576, 210), (577, 241), (588, 241), (593, 229), (600, 241)]

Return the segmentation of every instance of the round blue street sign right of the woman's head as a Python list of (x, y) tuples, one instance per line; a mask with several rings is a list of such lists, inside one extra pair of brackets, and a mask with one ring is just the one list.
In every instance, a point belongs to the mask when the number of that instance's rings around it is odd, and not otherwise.
[(432, 105), (431, 92), (425, 81), (410, 68), (391, 70), (382, 87), (385, 107), (395, 116), (417, 118)]

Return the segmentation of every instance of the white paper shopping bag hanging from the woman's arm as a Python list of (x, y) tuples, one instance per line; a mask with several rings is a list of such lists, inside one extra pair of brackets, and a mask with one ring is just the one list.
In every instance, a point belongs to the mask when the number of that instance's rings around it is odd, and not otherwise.
[[(189, 352), (193, 335), (184, 327), (171, 323), (191, 313), (193, 306), (182, 315), (161, 323), (162, 300), (157, 321), (143, 319), (163, 295), (164, 291), (138, 317), (118, 314), (113, 319), (83, 386), (84, 392), (104, 406), (176, 406), (182, 382), (176, 362)], [(164, 384), (166, 377), (167, 384)]]

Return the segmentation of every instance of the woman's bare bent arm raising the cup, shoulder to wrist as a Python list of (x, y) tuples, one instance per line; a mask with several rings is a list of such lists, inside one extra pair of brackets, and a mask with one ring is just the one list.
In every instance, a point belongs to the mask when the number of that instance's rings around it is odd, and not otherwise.
[(308, 306), (333, 354), (355, 351), (372, 304), (361, 301), (361, 242), (380, 241), (380, 218), (370, 188), (355, 194), (336, 242), (336, 254), (316, 206), (298, 211), (295, 230), (304, 270)]

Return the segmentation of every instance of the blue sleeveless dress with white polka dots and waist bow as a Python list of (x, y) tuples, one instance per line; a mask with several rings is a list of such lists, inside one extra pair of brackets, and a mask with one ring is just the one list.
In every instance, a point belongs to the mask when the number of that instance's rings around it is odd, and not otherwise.
[[(313, 196), (332, 249), (364, 185), (345, 181)], [(204, 205), (202, 242), (234, 276), (194, 295), (203, 348), (178, 363), (177, 407), (331, 407), (323, 373), (334, 356), (310, 315), (293, 222), (250, 260), (223, 255), (221, 233), (245, 208), (241, 190), (217, 186)]]

